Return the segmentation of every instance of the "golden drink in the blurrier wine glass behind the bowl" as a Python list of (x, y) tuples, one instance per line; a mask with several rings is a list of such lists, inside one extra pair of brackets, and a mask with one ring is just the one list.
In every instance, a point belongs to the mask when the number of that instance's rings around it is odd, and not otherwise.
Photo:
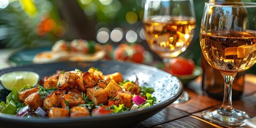
[(162, 58), (177, 57), (189, 46), (195, 18), (155, 16), (143, 21), (147, 43)]

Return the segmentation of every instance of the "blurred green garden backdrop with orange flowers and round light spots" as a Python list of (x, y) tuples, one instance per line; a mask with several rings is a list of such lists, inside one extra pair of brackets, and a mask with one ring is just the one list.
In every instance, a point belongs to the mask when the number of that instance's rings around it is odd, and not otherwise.
[[(194, 1), (198, 22), (188, 47), (195, 53), (193, 60), (199, 66), (199, 21), (202, 19), (202, 6), (207, 1)], [(86, 39), (103, 45), (106, 59), (114, 58), (113, 50), (121, 43), (139, 43), (153, 55), (154, 60), (161, 61), (145, 41), (141, 25), (144, 3), (145, 0), (1, 0), (0, 49), (45, 47), (60, 39)], [(255, 74), (255, 68), (248, 70), (249, 73)]]

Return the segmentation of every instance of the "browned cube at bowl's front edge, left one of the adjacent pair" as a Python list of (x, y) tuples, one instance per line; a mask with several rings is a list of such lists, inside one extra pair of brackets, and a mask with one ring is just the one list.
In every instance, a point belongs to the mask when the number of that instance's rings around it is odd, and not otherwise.
[(68, 109), (63, 109), (63, 108), (52, 107), (48, 111), (48, 116), (50, 118), (68, 117), (69, 116), (69, 110)]

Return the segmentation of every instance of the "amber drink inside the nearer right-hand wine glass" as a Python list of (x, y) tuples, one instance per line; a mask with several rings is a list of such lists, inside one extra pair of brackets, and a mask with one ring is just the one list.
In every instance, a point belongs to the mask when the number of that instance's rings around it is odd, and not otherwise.
[(256, 31), (218, 31), (201, 34), (201, 47), (210, 65), (226, 72), (240, 72), (256, 60)]

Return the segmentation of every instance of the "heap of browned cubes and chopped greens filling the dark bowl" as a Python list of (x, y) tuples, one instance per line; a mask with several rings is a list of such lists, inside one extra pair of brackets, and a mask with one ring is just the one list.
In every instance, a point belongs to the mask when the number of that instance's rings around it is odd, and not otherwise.
[(97, 68), (87, 71), (58, 70), (36, 86), (13, 87), (0, 112), (20, 117), (81, 117), (125, 113), (157, 103), (153, 88), (139, 86), (138, 78), (128, 81), (119, 72), (103, 74)]

